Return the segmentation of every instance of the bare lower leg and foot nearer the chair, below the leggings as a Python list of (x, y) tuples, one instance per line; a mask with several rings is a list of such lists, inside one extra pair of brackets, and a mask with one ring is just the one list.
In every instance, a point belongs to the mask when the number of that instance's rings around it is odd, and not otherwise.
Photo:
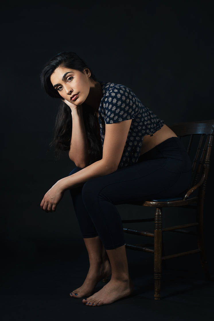
[(112, 268), (111, 280), (100, 291), (94, 293), (88, 299), (82, 300), (88, 306), (110, 304), (133, 292), (133, 282), (128, 272), (125, 246), (106, 252)]

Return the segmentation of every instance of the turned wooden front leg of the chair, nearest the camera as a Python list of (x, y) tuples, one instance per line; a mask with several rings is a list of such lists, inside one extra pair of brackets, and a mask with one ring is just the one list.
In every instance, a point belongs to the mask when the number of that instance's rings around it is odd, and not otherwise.
[(156, 208), (155, 230), (154, 230), (154, 281), (155, 300), (160, 299), (160, 279), (161, 279), (161, 257), (162, 257), (162, 208)]

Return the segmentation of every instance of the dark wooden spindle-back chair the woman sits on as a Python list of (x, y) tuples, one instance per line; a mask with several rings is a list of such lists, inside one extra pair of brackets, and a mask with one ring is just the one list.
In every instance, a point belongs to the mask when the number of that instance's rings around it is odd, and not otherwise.
[[(214, 134), (214, 120), (198, 121), (198, 122), (187, 122), (175, 124), (171, 127), (175, 134), (181, 139), (181, 137), (189, 136), (189, 143), (187, 152), (190, 154), (191, 147), (195, 143), (195, 139), (199, 141), (197, 143), (195, 157), (192, 165), (192, 180), (191, 185), (188, 188), (184, 198), (171, 198), (171, 199), (157, 199), (144, 202), (142, 206), (155, 207), (155, 216), (151, 219), (140, 219), (140, 220), (123, 220), (123, 223), (130, 222), (147, 222), (154, 221), (154, 231), (145, 232), (141, 230), (125, 229), (125, 233), (142, 235), (154, 238), (154, 249), (147, 247), (147, 244), (130, 245), (125, 244), (126, 248), (144, 251), (154, 254), (154, 283), (155, 283), (155, 300), (160, 299), (160, 279), (161, 279), (161, 266), (165, 260), (184, 256), (192, 253), (200, 253), (201, 265), (205, 273), (205, 277), (208, 280), (210, 278), (208, 263), (204, 250), (204, 239), (203, 239), (203, 205), (204, 205), (204, 194), (207, 184), (208, 172), (210, 167), (210, 154), (212, 147), (212, 140)], [(185, 138), (186, 139), (186, 138)], [(192, 151), (191, 151), (192, 154)], [(134, 204), (134, 203), (132, 203)], [(139, 203), (137, 204), (139, 205)], [(182, 207), (182, 208), (193, 208), (196, 209), (196, 220), (193, 223), (162, 227), (162, 208), (163, 207)], [(196, 227), (197, 231), (184, 230), (190, 227)], [(193, 234), (197, 236), (198, 247), (191, 251), (182, 253), (164, 255), (163, 244), (162, 244), (162, 233), (166, 231), (175, 231), (183, 234)], [(150, 246), (151, 244), (149, 244)]]

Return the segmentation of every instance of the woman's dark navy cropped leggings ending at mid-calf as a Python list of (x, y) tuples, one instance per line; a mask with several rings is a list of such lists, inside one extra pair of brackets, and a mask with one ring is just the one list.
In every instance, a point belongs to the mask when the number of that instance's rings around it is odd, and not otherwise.
[(172, 137), (141, 155), (136, 164), (70, 189), (83, 238), (99, 235), (107, 250), (124, 245), (115, 205), (184, 195), (190, 179), (189, 156), (182, 142)]

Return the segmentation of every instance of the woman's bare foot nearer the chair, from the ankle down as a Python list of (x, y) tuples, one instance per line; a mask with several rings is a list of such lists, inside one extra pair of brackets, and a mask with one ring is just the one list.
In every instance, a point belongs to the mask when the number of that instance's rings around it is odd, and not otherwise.
[(95, 307), (104, 304), (110, 304), (130, 295), (133, 292), (133, 282), (129, 278), (127, 280), (110, 280), (100, 291), (94, 293), (88, 299), (82, 302), (87, 306)]

